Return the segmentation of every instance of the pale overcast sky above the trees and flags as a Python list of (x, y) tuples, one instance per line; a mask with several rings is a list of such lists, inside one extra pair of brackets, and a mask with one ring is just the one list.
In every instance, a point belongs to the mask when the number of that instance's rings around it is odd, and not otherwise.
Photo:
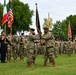
[[(8, 2), (9, 0), (6, 0)], [(57, 20), (64, 20), (69, 15), (76, 14), (76, 0), (20, 0), (24, 3), (28, 3), (31, 10), (36, 12), (35, 3), (38, 4), (39, 18), (41, 28), (44, 22), (44, 18), (48, 17), (48, 12), (50, 18), (52, 18), (53, 23)], [(3, 0), (0, 0), (0, 3), (3, 4)], [(35, 27), (35, 13), (32, 18), (33, 26)]]

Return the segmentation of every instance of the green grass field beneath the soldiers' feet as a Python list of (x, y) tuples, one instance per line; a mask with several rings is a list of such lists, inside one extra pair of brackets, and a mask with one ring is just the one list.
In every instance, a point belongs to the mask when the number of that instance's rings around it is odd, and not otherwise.
[(0, 63), (0, 75), (76, 75), (76, 54), (71, 57), (59, 55), (56, 67), (42, 66), (43, 57), (37, 56), (35, 67), (29, 68), (24, 61)]

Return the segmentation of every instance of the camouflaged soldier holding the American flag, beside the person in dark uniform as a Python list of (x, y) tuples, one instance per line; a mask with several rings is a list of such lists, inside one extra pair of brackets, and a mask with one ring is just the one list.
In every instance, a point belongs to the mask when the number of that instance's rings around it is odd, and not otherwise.
[(7, 36), (7, 39), (8, 41), (11, 43), (11, 44), (8, 44), (7, 46), (7, 61), (10, 62), (11, 61), (11, 56), (12, 56), (12, 34), (9, 33), (8, 36)]

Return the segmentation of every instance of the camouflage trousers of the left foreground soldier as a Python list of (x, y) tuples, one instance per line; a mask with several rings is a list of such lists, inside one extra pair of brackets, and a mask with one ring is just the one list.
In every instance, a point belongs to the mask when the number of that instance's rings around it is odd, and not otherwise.
[(34, 49), (28, 49), (27, 50), (27, 64), (31, 65), (34, 63), (35, 57), (34, 57)]

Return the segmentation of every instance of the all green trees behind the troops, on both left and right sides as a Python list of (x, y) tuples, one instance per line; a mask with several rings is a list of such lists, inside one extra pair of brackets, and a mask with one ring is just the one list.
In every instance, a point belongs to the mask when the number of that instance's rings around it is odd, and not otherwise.
[[(28, 31), (30, 25), (32, 25), (32, 16), (34, 15), (34, 11), (30, 9), (28, 4), (24, 4), (19, 0), (12, 0), (12, 11), (14, 15), (14, 23), (12, 26), (12, 30), (14, 31)], [(9, 9), (9, 3), (7, 4), (7, 11)], [(0, 26), (2, 26), (2, 15), (3, 15), (3, 5), (0, 3)], [(68, 38), (68, 21), (70, 20), (70, 25), (72, 29), (73, 38), (76, 36), (76, 15), (70, 15), (66, 17), (65, 20), (56, 21), (56, 23), (52, 23), (52, 19), (50, 19), (50, 23), (53, 26), (52, 32), (55, 38), (61, 38), (63, 40), (67, 40)], [(46, 18), (44, 18), (45, 24)], [(7, 27), (7, 32), (9, 32), (9, 28)]]

